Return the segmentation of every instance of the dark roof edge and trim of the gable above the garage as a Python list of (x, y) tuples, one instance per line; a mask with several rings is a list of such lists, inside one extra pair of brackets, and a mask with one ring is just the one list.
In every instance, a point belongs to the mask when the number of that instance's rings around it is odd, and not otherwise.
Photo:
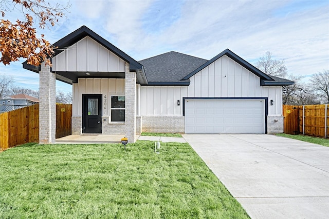
[(222, 56), (228, 56), (229, 58), (233, 59), (236, 63), (239, 63), (241, 66), (245, 67), (248, 69), (250, 72), (254, 73), (255, 75), (259, 76), (261, 79), (261, 86), (287, 86), (287, 85), (292, 85), (294, 82), (289, 81), (287, 79), (283, 79), (280, 77), (275, 77), (275, 76), (269, 76), (259, 70), (258, 68), (254, 67), (247, 61), (245, 61), (243, 58), (241, 58), (239, 55), (236, 55), (234, 52), (232, 52), (229, 49), (224, 50), (220, 54), (216, 55), (212, 59), (210, 59), (208, 62), (203, 64), (202, 66), (199, 66), (196, 68), (194, 71), (186, 75), (185, 77), (182, 78), (182, 80), (187, 80), (190, 77), (192, 77), (194, 74), (197, 72), (201, 71), (202, 69), (206, 68), (209, 66), (211, 63), (215, 62), (218, 58), (221, 58)]

